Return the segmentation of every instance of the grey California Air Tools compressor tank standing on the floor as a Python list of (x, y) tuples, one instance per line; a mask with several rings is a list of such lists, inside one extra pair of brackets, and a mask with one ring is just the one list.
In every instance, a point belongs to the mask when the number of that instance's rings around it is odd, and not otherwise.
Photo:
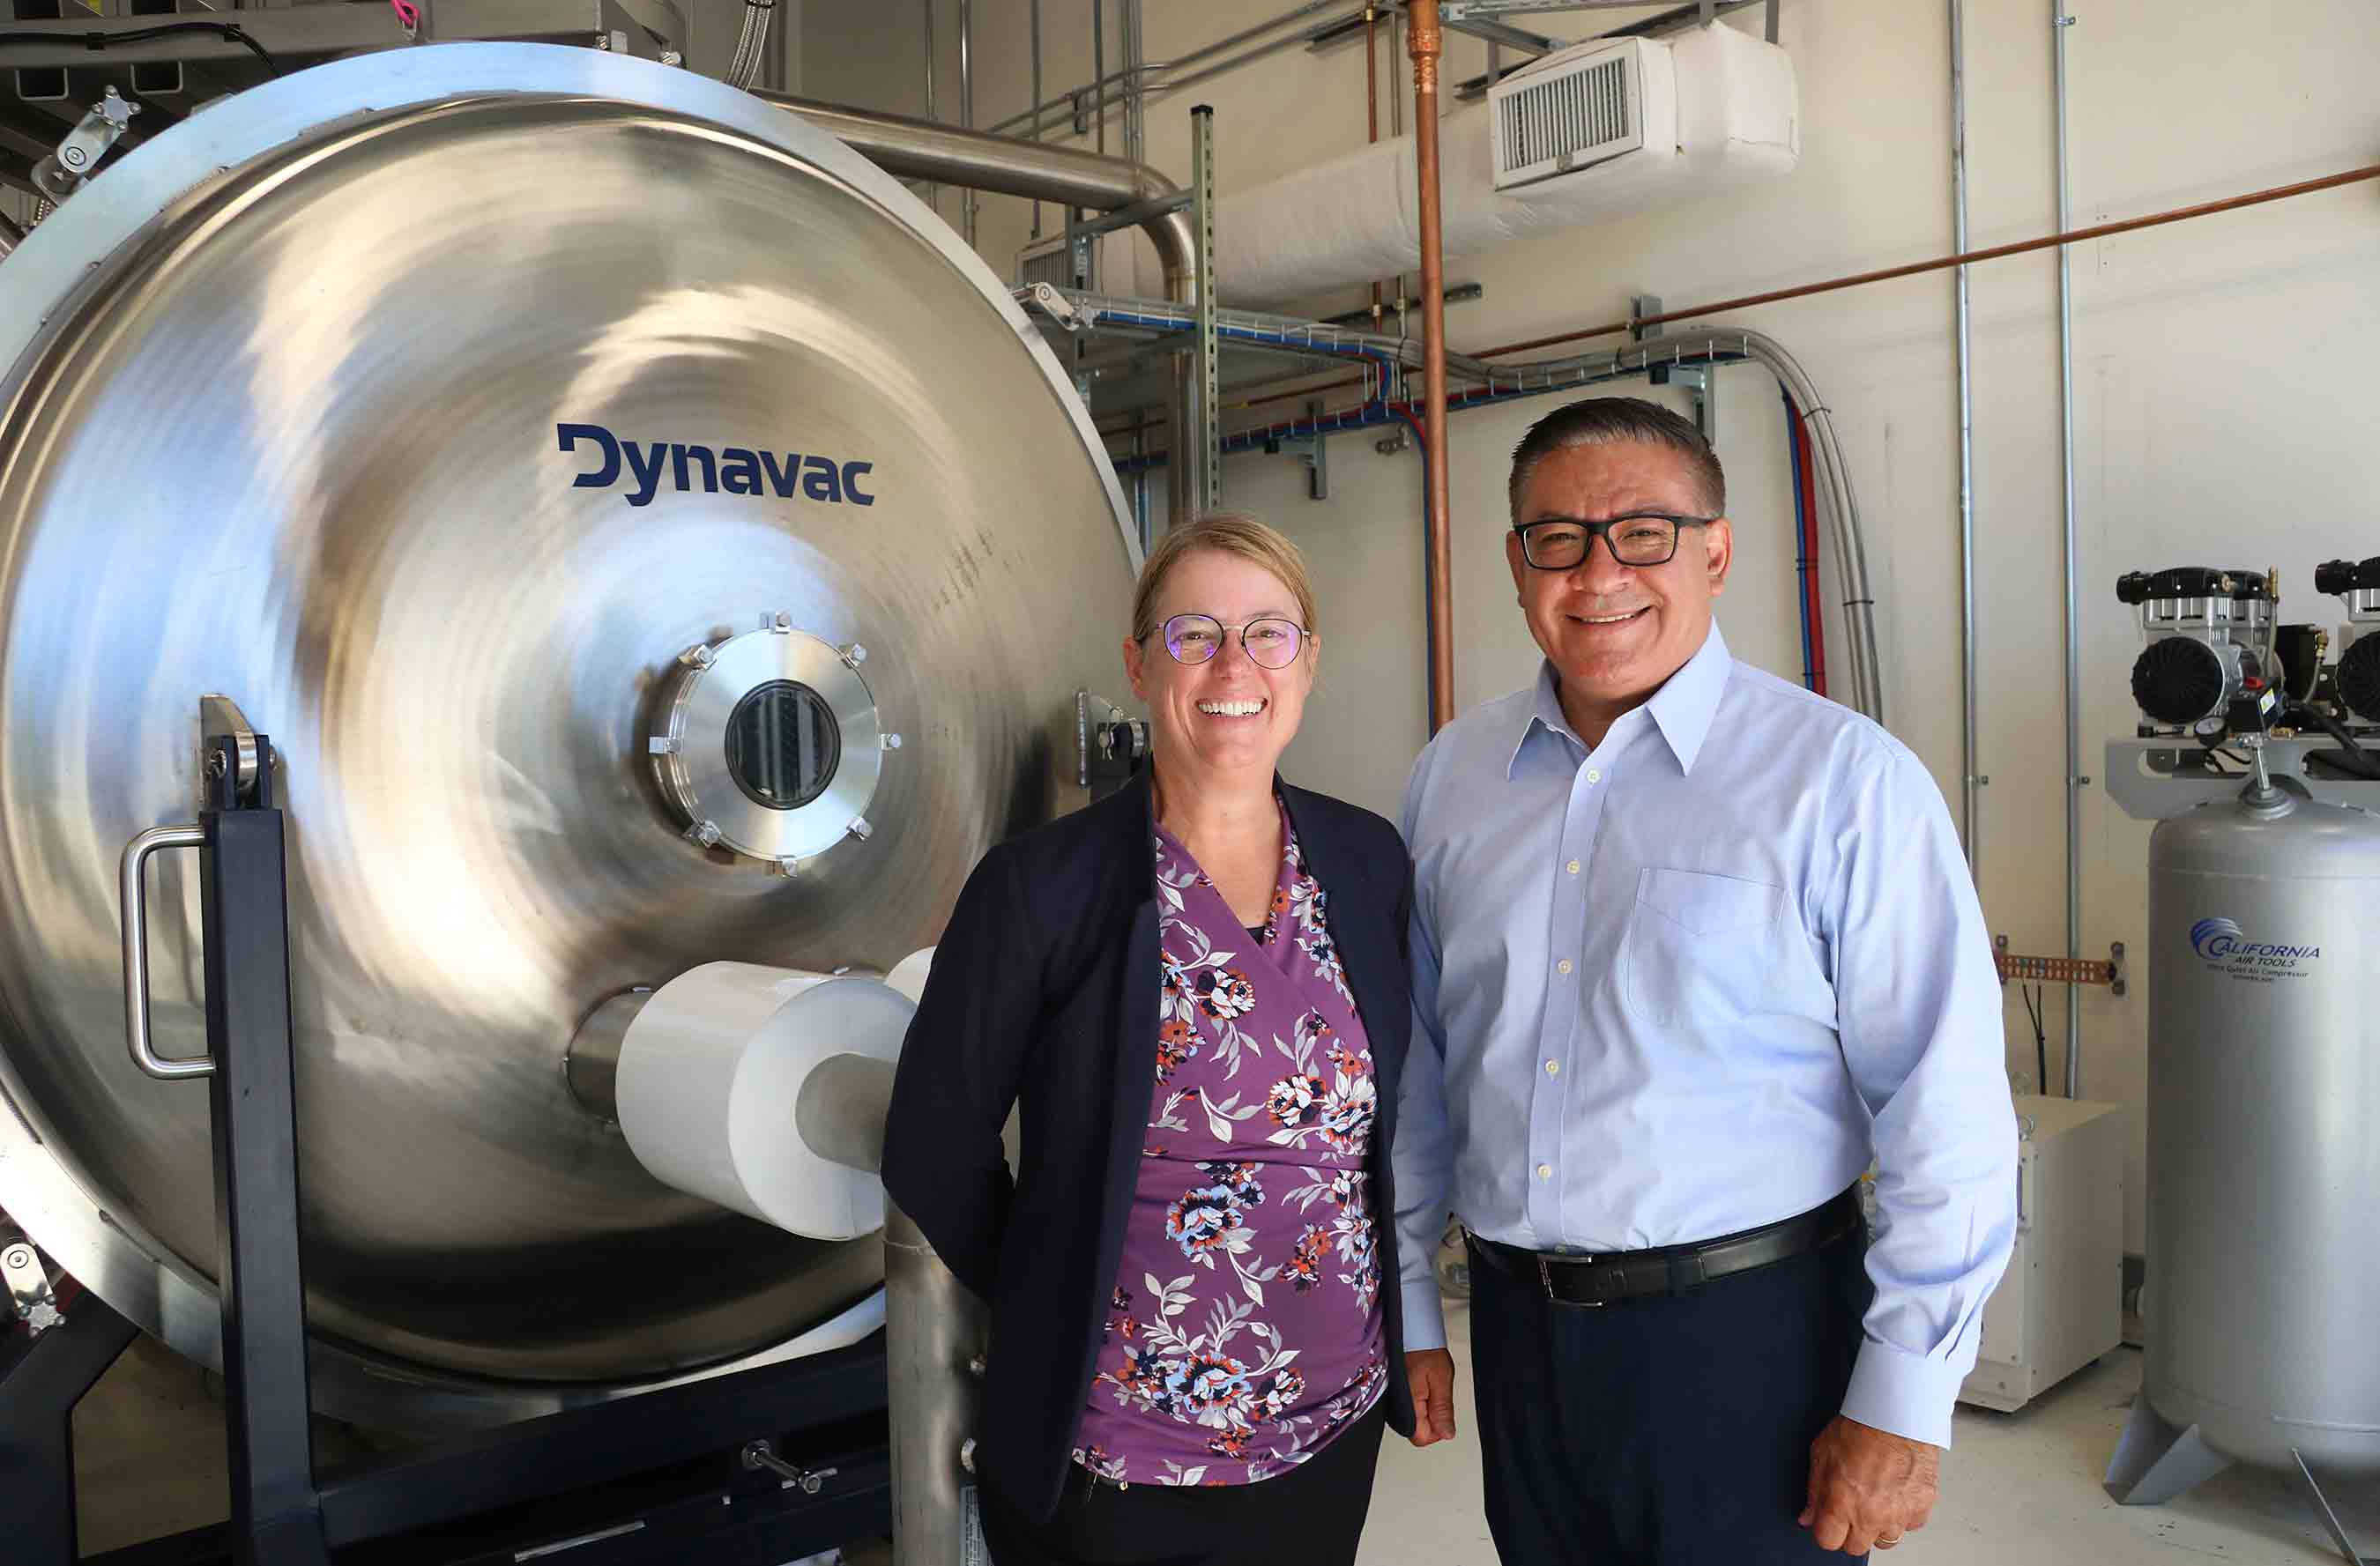
[(2147, 1368), (2109, 1487), (2380, 1476), (2380, 819), (2202, 804), (2149, 900)]

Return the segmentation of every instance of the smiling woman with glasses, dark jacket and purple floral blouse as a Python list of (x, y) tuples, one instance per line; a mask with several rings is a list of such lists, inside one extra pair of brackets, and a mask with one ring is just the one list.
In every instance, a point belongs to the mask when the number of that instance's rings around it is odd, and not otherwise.
[(1314, 621), (1261, 521), (1159, 543), (1123, 643), (1147, 785), (976, 866), (902, 1052), (885, 1188), (995, 1302), (1002, 1566), (1352, 1561), (1380, 1428), (1411, 1430), (1380, 1221), (1411, 869), (1276, 773)]

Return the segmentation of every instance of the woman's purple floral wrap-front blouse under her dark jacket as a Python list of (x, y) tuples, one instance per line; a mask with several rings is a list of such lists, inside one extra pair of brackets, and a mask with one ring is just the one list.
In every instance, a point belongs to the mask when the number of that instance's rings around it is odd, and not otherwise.
[(1157, 828), (1157, 1083), (1073, 1454), (1102, 1478), (1250, 1485), (1321, 1452), (1388, 1385), (1371, 1047), (1288, 809), (1280, 840), (1254, 942)]

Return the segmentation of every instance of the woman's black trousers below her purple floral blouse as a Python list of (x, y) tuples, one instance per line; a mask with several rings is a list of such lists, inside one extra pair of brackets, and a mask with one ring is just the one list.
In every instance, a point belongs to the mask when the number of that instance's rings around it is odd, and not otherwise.
[(1288, 1473), (1254, 1485), (1114, 1485), (1076, 1468), (1033, 1521), (983, 1485), (992, 1566), (1354, 1566), (1388, 1399)]

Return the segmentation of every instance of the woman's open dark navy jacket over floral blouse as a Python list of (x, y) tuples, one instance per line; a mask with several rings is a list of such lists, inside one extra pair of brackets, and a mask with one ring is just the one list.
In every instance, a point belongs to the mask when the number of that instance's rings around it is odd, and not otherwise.
[[(1388, 1335), (1388, 1423), (1414, 1430), (1390, 1142), (1411, 1038), (1411, 859), (1380, 816), (1278, 785), (1371, 1042), (1368, 1176)], [(992, 1307), (976, 1466), (1028, 1516), (1057, 1511), (1100, 1354), (1157, 1083), (1157, 869), (1147, 778), (983, 857), (902, 1045), (883, 1178), (959, 1283)], [(1019, 1169), (1000, 1147), (1023, 1107)]]

